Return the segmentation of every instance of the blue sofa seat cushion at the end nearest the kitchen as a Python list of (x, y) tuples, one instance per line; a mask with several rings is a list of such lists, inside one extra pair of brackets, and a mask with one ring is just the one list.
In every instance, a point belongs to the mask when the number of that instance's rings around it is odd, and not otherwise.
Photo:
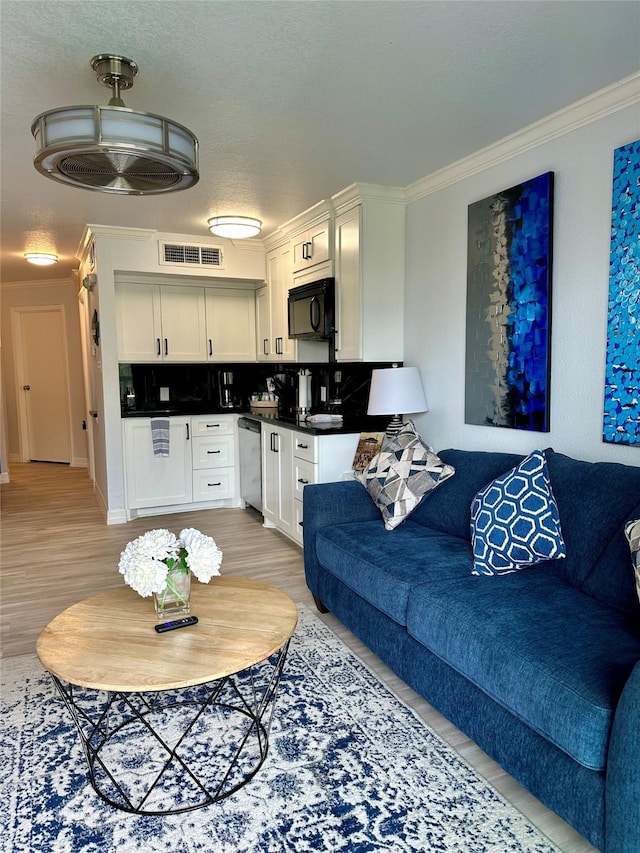
[(380, 521), (332, 525), (318, 531), (322, 566), (400, 625), (411, 588), (431, 577), (468, 574), (471, 546), (463, 539), (407, 521), (393, 536)]

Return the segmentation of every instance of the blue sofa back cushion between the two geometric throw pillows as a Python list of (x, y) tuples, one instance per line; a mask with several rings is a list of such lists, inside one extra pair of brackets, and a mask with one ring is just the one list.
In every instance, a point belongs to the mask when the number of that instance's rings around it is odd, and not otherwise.
[(427, 496), (413, 512), (411, 520), (469, 539), (474, 497), (487, 483), (522, 462), (523, 457), (479, 450), (442, 450), (438, 456), (452, 465), (456, 473)]

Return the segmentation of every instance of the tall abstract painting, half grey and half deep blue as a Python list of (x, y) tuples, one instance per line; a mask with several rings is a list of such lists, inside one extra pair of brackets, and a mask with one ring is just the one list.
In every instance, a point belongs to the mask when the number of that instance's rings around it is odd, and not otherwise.
[(549, 431), (553, 172), (469, 205), (465, 423)]

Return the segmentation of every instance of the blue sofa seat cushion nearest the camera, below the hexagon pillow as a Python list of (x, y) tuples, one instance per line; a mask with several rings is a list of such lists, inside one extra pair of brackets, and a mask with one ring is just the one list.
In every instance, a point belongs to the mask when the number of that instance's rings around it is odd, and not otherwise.
[(624, 614), (539, 567), (416, 586), (407, 628), (580, 764), (606, 766), (614, 710), (640, 659)]

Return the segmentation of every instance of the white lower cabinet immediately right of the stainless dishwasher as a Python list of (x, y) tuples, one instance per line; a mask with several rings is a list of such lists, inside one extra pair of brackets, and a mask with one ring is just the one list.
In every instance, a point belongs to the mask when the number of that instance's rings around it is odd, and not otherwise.
[(293, 534), (293, 432), (262, 424), (262, 515), (265, 527)]

